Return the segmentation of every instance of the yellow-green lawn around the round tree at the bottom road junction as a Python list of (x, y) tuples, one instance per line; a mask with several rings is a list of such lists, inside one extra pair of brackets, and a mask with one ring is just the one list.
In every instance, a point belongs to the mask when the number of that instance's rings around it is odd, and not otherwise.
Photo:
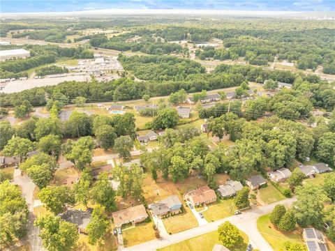
[[(231, 251), (245, 251), (248, 245), (248, 236), (240, 231), (244, 238), (244, 245), (237, 248), (230, 248)], [(215, 244), (220, 244), (218, 241), (218, 231), (212, 231), (201, 236), (197, 236), (186, 241), (181, 241), (165, 248), (158, 249), (159, 251), (211, 251)]]

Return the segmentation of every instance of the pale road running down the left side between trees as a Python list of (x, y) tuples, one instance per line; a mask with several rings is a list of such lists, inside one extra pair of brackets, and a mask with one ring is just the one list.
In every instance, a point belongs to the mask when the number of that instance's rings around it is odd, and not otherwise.
[(34, 190), (36, 188), (36, 185), (31, 181), (31, 179), (27, 176), (21, 175), (20, 169), (15, 169), (14, 171), (14, 184), (20, 185), (22, 190), (22, 197), (26, 199), (28, 209), (29, 209), (29, 222), (28, 222), (28, 234), (27, 238), (31, 245), (31, 251), (41, 251), (44, 250), (42, 246), (42, 240), (38, 236), (39, 229), (38, 227), (34, 226)]

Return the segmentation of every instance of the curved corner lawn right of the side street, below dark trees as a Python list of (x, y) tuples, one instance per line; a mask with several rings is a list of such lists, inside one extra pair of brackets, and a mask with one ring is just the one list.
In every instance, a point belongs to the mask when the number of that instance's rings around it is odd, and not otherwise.
[(285, 241), (290, 241), (292, 243), (304, 243), (301, 238), (301, 233), (297, 230), (292, 233), (283, 233), (274, 228), (269, 220), (269, 214), (263, 215), (257, 220), (257, 227), (260, 234), (265, 238), (265, 240), (271, 245), (274, 251), (285, 250)]

